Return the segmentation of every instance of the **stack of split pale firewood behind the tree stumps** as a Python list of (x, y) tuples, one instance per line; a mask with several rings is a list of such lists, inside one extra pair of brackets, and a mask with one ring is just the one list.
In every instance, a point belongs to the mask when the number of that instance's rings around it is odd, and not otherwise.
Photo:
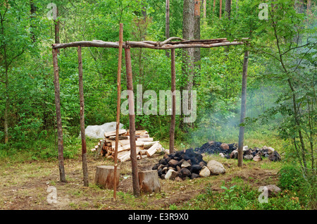
[[(114, 159), (116, 150), (116, 131), (105, 132), (104, 137), (105, 138), (101, 139), (92, 151), (97, 151), (97, 155)], [(124, 129), (119, 130), (118, 140), (118, 161), (124, 162), (130, 160), (131, 147), (129, 131)], [(151, 157), (156, 152), (164, 150), (159, 141), (154, 141), (153, 137), (149, 137), (149, 133), (146, 130), (135, 131), (135, 144), (137, 159)]]

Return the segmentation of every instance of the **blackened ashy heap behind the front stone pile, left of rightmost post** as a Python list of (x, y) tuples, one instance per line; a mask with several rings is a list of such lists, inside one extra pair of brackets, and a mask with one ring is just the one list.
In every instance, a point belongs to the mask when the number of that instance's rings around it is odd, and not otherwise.
[(237, 150), (237, 144), (226, 144), (223, 142), (209, 141), (203, 144), (201, 147), (197, 147), (194, 151), (199, 154), (220, 154), (224, 158), (230, 158), (232, 151)]

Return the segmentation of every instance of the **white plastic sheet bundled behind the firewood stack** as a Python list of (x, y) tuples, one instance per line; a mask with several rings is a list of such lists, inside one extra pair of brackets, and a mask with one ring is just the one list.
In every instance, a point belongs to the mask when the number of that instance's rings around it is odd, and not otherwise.
[[(119, 125), (123, 129), (123, 124)], [(104, 132), (113, 132), (116, 130), (116, 122), (104, 123), (103, 125), (88, 125), (85, 129), (85, 135), (92, 139), (103, 139)]]

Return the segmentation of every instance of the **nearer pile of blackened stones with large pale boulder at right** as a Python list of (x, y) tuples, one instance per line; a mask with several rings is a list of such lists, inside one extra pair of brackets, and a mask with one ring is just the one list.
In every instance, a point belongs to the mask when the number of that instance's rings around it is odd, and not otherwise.
[(185, 180), (186, 178), (204, 178), (209, 175), (225, 173), (225, 168), (217, 161), (208, 163), (202, 155), (195, 153), (194, 149), (176, 151), (173, 154), (164, 154), (163, 158), (152, 170), (157, 170), (161, 179)]

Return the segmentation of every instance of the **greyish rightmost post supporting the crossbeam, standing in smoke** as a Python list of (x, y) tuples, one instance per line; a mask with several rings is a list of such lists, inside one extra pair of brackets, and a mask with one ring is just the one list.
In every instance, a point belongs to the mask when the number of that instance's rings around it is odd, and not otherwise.
[[(246, 111), (248, 63), (249, 63), (249, 51), (245, 51), (244, 61), (243, 61), (243, 71), (242, 71), (242, 97), (241, 97), (240, 124), (244, 123), (245, 111)], [(238, 144), (238, 166), (243, 166), (243, 142), (244, 142), (244, 126), (240, 126), (239, 144)]]

